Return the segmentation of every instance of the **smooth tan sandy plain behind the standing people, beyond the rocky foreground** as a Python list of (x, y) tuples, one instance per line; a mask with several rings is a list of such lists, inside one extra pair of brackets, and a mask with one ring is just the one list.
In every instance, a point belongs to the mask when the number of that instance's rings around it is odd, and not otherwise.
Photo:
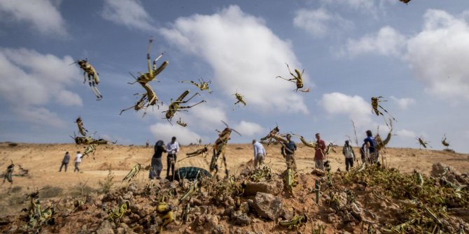
[[(297, 168), (300, 172), (310, 172), (314, 167), (312, 161), (314, 150), (297, 144), (299, 149), (296, 153)], [(178, 160), (186, 156), (186, 152), (192, 152), (199, 146), (182, 146)], [(44, 187), (45, 185), (70, 188), (76, 186), (79, 182), (86, 182), (91, 187), (96, 187), (99, 180), (104, 180), (111, 167), (116, 182), (122, 180), (129, 170), (136, 164), (142, 166), (150, 164), (153, 156), (153, 146), (123, 146), (123, 145), (100, 145), (94, 155), (85, 157), (80, 164), (80, 173), (73, 173), (73, 159), (76, 152), (83, 152), (83, 145), (74, 144), (22, 144), (16, 147), (10, 147), (6, 143), (0, 144), (0, 168), (5, 170), (10, 164), (10, 160), (17, 165), (29, 170), (30, 178), (13, 177), (14, 186), (25, 188)], [(358, 154), (358, 149), (354, 149)], [(62, 170), (59, 173), (59, 166), (65, 152), (71, 153), (71, 163), (66, 173)], [(336, 147), (336, 153), (332, 152), (329, 160), (332, 162), (332, 171), (345, 169), (344, 157), (342, 156), (342, 146)], [(236, 173), (241, 164), (247, 163), (253, 157), (252, 145), (228, 145), (226, 157), (228, 167), (231, 173)], [(283, 157), (280, 154), (280, 148), (276, 145), (267, 147), (266, 163), (271, 163), (272, 169), (278, 172), (285, 169)], [(460, 173), (469, 172), (469, 154), (449, 153), (440, 150), (431, 149), (409, 149), (409, 148), (388, 148), (385, 150), (384, 157), (386, 165), (398, 168), (401, 172), (410, 173), (416, 168), (422, 173), (429, 174), (433, 163), (442, 162), (456, 168)], [(166, 173), (166, 156), (163, 156), (163, 173)], [(220, 159), (219, 159), (220, 160)], [(184, 159), (176, 164), (176, 167), (197, 166), (208, 170), (210, 157), (195, 156), (190, 159)], [(221, 164), (221, 160), (219, 161)], [(15, 170), (18, 173), (18, 168)], [(142, 171), (138, 179), (144, 182), (148, 177), (148, 171)], [(6, 187), (6, 184), (3, 184)]]

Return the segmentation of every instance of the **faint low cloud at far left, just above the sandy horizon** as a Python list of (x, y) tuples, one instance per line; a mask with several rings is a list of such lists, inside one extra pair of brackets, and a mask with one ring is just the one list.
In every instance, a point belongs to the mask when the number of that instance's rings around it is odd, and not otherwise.
[(18, 106), (13, 108), (13, 113), (20, 119), (36, 125), (56, 128), (64, 128), (66, 126), (66, 122), (60, 119), (55, 112), (50, 112), (45, 108)]

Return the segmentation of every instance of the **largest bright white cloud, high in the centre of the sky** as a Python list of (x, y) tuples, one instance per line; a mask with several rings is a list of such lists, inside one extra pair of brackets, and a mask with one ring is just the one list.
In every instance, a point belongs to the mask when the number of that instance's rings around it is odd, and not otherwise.
[[(301, 67), (292, 46), (238, 6), (214, 15), (179, 17), (160, 33), (179, 50), (207, 61), (214, 69), (214, 84), (227, 96), (239, 92), (249, 106), (264, 110), (308, 112), (304, 94), (293, 92), (292, 82), (275, 78), (289, 76), (286, 62)], [(303, 80), (311, 86), (307, 74)]]

